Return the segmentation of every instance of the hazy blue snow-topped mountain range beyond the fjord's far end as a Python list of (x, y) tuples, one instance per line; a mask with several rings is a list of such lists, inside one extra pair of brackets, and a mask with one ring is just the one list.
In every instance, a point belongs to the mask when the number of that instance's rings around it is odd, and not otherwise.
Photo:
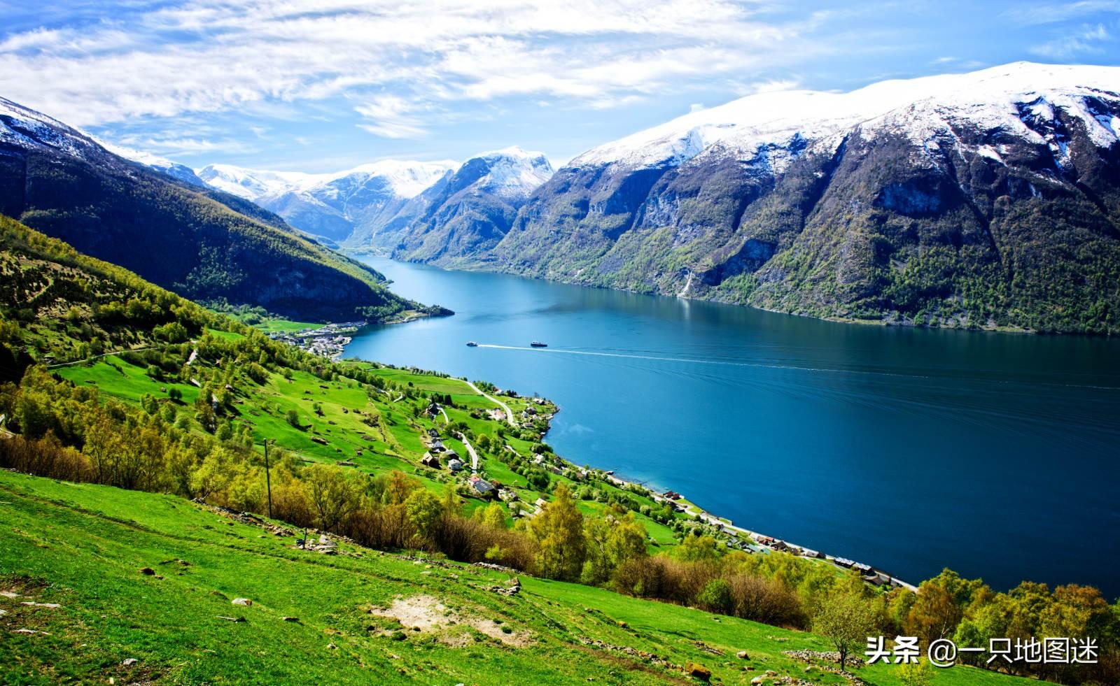
[(507, 148), (461, 165), (384, 160), (325, 175), (211, 165), (197, 178), (328, 245), (439, 261), (494, 247), (552, 171), (543, 154)]

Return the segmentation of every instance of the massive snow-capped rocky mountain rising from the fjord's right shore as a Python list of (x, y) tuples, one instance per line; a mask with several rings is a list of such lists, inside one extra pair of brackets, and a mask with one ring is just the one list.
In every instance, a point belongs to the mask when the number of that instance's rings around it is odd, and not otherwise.
[(750, 95), (577, 157), (483, 263), (818, 316), (1120, 329), (1120, 286), (1086, 285), (1089, 255), (1120, 265), (1118, 116), (1120, 67)]

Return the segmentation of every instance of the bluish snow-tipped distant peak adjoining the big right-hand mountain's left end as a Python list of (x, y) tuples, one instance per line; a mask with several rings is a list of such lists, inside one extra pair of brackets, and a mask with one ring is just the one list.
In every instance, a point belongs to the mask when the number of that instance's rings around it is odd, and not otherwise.
[(497, 245), (517, 209), (552, 173), (540, 152), (516, 147), (484, 152), (404, 206), (376, 241), (401, 260), (445, 266), (473, 262)]

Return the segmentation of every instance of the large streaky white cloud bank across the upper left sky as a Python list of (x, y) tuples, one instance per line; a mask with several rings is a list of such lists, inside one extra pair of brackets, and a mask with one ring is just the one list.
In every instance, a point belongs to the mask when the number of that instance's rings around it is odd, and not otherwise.
[(102, 20), (9, 35), (0, 93), (75, 125), (346, 96), (362, 129), (417, 138), (446, 103), (614, 107), (820, 49), (803, 26), (753, 12), (736, 0), (198, 0), (140, 11), (127, 31)]

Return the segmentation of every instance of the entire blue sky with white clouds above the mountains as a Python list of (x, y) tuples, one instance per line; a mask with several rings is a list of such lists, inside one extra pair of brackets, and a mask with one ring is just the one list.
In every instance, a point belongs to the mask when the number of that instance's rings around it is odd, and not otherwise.
[(0, 0), (0, 95), (193, 167), (563, 162), (760, 90), (1120, 64), (1120, 0)]

